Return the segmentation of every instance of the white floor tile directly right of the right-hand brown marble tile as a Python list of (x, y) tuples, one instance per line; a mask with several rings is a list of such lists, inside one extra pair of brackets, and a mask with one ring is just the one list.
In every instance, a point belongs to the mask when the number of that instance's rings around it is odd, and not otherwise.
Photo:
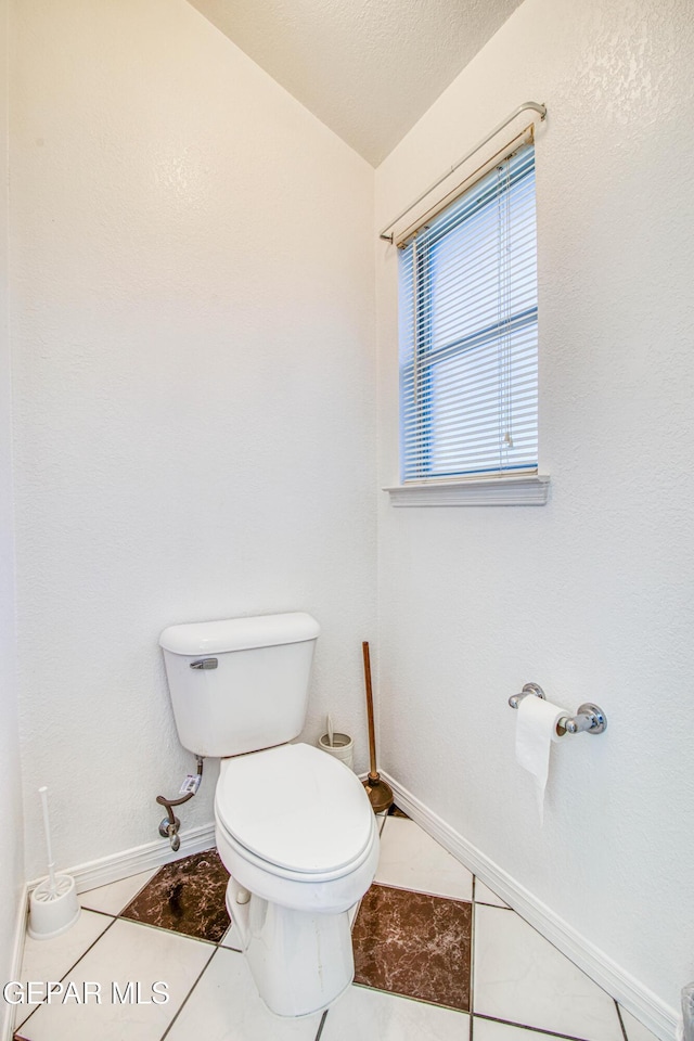
[(587, 1041), (621, 1041), (613, 999), (514, 911), (475, 907), (474, 1012)]

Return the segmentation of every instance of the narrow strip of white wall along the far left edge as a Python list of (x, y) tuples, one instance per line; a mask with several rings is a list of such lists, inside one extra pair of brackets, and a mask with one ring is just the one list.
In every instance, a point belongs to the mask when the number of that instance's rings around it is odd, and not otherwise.
[[(12, 492), (12, 394), (8, 335), (8, 2), (0, 0), (0, 980), (10, 978), (24, 884), (17, 730)], [(2, 1002), (0, 1036), (11, 1010)]]

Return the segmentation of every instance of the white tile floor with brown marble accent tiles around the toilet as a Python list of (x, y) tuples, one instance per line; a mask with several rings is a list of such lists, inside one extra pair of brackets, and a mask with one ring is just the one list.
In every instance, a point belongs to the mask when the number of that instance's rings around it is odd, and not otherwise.
[[(227, 916), (226, 877), (208, 850), (82, 894), (72, 929), (27, 938), (21, 978), (72, 981), (79, 997), (100, 984), (101, 1003), (48, 1003), (39, 990), (16, 1006), (15, 1038), (654, 1041), (404, 815), (384, 819), (376, 878), (354, 922), (355, 986), (325, 1016), (287, 1021), (266, 1010)], [(139, 995), (126, 991), (136, 980)], [(152, 1001), (157, 981), (167, 1003)]]

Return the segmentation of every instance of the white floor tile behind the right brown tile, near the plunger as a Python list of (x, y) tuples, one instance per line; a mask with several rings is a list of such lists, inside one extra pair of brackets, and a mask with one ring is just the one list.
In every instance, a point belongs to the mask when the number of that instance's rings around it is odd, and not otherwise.
[(381, 835), (375, 882), (400, 889), (472, 900), (473, 876), (414, 821), (389, 817)]

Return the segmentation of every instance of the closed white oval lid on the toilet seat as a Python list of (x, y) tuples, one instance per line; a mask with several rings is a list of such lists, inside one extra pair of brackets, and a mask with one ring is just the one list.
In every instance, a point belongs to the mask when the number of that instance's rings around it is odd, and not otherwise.
[(222, 760), (215, 806), (236, 841), (291, 871), (346, 866), (371, 838), (371, 804), (361, 782), (310, 745)]

